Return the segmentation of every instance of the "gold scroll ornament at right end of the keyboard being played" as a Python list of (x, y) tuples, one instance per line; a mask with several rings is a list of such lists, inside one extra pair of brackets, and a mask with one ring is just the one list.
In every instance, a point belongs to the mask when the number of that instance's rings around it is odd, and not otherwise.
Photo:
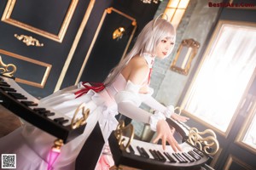
[[(202, 137), (202, 135), (207, 133), (210, 135), (205, 138)], [(219, 149), (216, 134), (212, 131), (212, 129), (199, 132), (195, 127), (190, 128), (188, 142), (194, 146), (199, 147), (200, 150), (204, 151), (210, 156), (215, 155)]]

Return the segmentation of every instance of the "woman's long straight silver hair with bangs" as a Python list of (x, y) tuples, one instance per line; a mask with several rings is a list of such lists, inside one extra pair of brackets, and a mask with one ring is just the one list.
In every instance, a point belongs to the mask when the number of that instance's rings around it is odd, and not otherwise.
[(137, 41), (133, 48), (131, 48), (131, 51), (126, 54), (125, 58), (122, 59), (112, 71), (110, 71), (110, 74), (104, 81), (105, 86), (108, 86), (108, 84), (111, 84), (114, 81), (132, 57), (136, 55), (141, 56), (144, 53), (154, 55), (157, 44), (163, 38), (171, 38), (173, 42), (175, 42), (176, 31), (172, 24), (167, 20), (158, 18), (148, 22), (148, 24), (144, 26), (143, 31), (138, 35)]

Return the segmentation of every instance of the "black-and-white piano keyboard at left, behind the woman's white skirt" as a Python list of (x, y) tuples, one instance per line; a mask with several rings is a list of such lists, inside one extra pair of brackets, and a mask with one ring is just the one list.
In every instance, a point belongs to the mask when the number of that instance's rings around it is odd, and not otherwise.
[(85, 125), (72, 129), (71, 118), (44, 105), (26, 93), (12, 78), (0, 76), (1, 105), (26, 122), (62, 139), (64, 143), (84, 132)]

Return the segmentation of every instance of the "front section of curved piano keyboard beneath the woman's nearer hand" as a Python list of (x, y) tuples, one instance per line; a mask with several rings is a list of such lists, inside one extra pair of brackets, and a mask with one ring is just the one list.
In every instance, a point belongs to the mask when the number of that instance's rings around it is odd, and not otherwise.
[[(127, 138), (124, 137), (124, 139), (125, 142), (128, 142)], [(126, 150), (119, 150), (119, 146), (114, 140), (116, 139), (112, 134), (108, 141), (116, 166), (125, 165), (148, 170), (190, 169), (191, 167), (201, 167), (209, 159), (201, 150), (186, 142), (180, 144), (182, 151), (174, 152), (170, 145), (163, 150), (161, 144), (147, 143), (137, 139), (133, 139)]]

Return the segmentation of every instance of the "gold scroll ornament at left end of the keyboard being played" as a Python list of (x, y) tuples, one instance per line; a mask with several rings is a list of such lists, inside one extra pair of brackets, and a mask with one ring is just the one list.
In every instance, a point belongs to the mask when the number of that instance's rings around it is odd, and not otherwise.
[[(125, 139), (123, 138), (123, 136), (124, 136), (124, 133), (128, 133), (128, 132), (130, 132), (130, 138), (127, 144), (125, 145), (124, 144)], [(125, 127), (125, 122), (119, 121), (119, 125), (117, 126), (114, 132), (114, 135), (116, 139), (118, 139), (120, 150), (126, 150), (130, 146), (131, 141), (134, 137), (134, 127), (131, 125), (131, 123)]]

